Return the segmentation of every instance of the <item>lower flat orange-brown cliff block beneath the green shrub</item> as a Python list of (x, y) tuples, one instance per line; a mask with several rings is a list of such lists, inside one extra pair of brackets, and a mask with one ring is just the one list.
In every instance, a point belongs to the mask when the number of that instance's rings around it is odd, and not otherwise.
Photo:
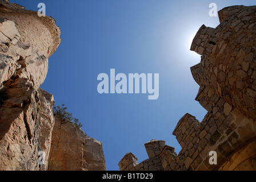
[(102, 143), (86, 137), (73, 122), (55, 115), (49, 157), (50, 171), (105, 171)]

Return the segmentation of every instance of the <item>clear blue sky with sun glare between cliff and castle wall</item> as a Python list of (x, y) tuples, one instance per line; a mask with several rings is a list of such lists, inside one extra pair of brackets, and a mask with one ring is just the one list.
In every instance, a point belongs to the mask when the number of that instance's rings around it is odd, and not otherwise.
[[(147, 159), (144, 143), (165, 140), (178, 153), (172, 135), (186, 113), (202, 121), (206, 114), (195, 96), (199, 86), (190, 67), (200, 56), (190, 44), (202, 24), (216, 27), (218, 17), (209, 16), (209, 4), (218, 11), (226, 6), (254, 5), (254, 1), (170, 0), (10, 0), (38, 10), (45, 3), (46, 15), (61, 28), (62, 43), (49, 58), (49, 71), (42, 89), (65, 104), (82, 123), (89, 137), (103, 143), (107, 170), (133, 152), (138, 162)], [(148, 94), (99, 94), (99, 73), (159, 73), (159, 98)]]

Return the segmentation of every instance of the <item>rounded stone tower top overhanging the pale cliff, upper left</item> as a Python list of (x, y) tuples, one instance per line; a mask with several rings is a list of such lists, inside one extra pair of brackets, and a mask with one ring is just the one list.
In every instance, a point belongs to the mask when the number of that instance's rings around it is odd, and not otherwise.
[[(61, 43), (61, 31), (50, 16), (39, 17), (37, 12), (1, 0), (0, 18), (15, 23), (21, 42), (33, 45), (45, 57), (50, 57)], [(11, 29), (7, 36), (13, 36), (17, 31)], [(3, 33), (4, 34), (4, 33)]]

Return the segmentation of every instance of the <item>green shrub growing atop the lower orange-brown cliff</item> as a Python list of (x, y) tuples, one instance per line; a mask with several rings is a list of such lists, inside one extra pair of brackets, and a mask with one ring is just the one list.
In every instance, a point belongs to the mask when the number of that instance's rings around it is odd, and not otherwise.
[(61, 106), (53, 106), (53, 112), (54, 114), (58, 114), (59, 117), (61, 117), (61, 121), (63, 123), (66, 123), (67, 121), (73, 121), (75, 124), (75, 128), (79, 129), (83, 125), (81, 122), (79, 122), (79, 119), (73, 118), (73, 114), (66, 111), (67, 107), (65, 107), (65, 104), (62, 104)]

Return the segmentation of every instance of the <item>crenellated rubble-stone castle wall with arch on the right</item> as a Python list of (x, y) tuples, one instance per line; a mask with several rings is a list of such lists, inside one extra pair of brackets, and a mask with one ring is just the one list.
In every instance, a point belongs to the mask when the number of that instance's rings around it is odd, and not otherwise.
[[(191, 72), (205, 118), (185, 114), (179, 120), (173, 131), (182, 147), (178, 155), (153, 140), (157, 152), (145, 144), (149, 159), (138, 164), (126, 154), (120, 170), (256, 170), (256, 6), (230, 6), (218, 15), (219, 26), (203, 25), (191, 45), (201, 55)], [(210, 151), (217, 152), (217, 164), (209, 163)]]

